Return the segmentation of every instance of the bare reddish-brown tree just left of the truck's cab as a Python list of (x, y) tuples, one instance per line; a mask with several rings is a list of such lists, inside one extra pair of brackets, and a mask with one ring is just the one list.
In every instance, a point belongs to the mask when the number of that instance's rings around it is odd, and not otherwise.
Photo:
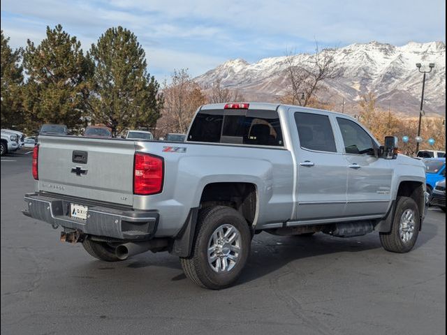
[(174, 70), (171, 83), (163, 85), (165, 104), (157, 123), (159, 133), (186, 133), (200, 105), (207, 102), (200, 86), (193, 82), (187, 69)]

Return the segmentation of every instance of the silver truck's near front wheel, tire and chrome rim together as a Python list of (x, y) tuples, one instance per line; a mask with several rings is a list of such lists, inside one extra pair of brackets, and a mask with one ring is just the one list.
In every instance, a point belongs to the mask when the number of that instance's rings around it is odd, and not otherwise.
[(386, 251), (408, 253), (416, 244), (419, 229), (418, 205), (409, 197), (399, 197), (391, 231), (380, 233), (381, 244)]

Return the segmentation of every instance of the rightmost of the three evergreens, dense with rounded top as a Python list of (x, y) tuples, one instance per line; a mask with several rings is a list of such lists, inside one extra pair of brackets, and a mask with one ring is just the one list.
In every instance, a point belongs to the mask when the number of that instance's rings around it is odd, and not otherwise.
[(163, 96), (147, 73), (145, 51), (136, 36), (123, 27), (110, 28), (91, 45), (90, 54), (95, 63), (92, 121), (110, 126), (114, 133), (154, 126)]

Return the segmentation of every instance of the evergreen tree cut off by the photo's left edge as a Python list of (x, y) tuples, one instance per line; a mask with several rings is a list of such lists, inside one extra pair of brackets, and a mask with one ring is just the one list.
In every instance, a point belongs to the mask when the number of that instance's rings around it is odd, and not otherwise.
[(22, 49), (13, 50), (1, 31), (1, 127), (22, 128)]

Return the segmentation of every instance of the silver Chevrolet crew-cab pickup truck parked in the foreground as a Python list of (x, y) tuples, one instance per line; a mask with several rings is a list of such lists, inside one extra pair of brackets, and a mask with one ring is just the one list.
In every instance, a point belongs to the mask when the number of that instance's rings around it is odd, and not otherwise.
[(197, 111), (185, 142), (38, 137), (24, 214), (61, 226), (95, 258), (178, 255), (206, 288), (231, 285), (258, 232), (354, 237), (413, 248), (425, 167), (345, 114), (227, 103)]

